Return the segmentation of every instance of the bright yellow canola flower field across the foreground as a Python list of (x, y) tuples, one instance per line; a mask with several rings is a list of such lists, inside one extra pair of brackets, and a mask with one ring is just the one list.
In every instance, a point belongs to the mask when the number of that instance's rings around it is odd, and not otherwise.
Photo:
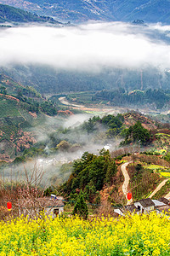
[(170, 255), (170, 220), (131, 215), (118, 219), (17, 218), (0, 223), (0, 255)]

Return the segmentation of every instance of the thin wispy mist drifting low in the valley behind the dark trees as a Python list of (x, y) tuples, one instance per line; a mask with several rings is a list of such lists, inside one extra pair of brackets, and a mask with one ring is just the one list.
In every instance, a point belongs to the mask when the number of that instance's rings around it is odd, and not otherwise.
[[(36, 129), (32, 129), (32, 132), (37, 134), (38, 142), (44, 142), (48, 140), (48, 136), (51, 134), (51, 132), (57, 131), (59, 127), (62, 127), (72, 129), (68, 132), (68, 134), (60, 133), (60, 140), (73, 140), (75, 143), (80, 143), (82, 146), (77, 148), (77, 150), (74, 152), (58, 150), (56, 154), (48, 155), (48, 152), (50, 153), (50, 148), (47, 145), (46, 149), (44, 149), (44, 151), (47, 151), (47, 157), (39, 156), (33, 160), (27, 160), (25, 163), (13, 166), (11, 169), (5, 168), (5, 179), (8, 182), (10, 182), (11, 179), (14, 181), (22, 182), (23, 180), (26, 180), (26, 175), (31, 178), (31, 175), (36, 168), (37, 175), (41, 172), (44, 173), (41, 184), (45, 187), (48, 187), (51, 185), (52, 177), (59, 179), (63, 176), (63, 174), (60, 172), (60, 168), (63, 164), (81, 159), (84, 152), (88, 151), (88, 153), (91, 154), (99, 154), (99, 150), (102, 148), (105, 148), (106, 150), (109, 149), (110, 151), (116, 150), (121, 142), (119, 139), (113, 138), (110, 140), (109, 144), (102, 141), (100, 143), (100, 140), (92, 141), (93, 134), (88, 134), (87, 131), (74, 131), (74, 127), (82, 124), (84, 121), (87, 121), (90, 117), (93, 117), (93, 115), (88, 113), (71, 115), (67, 119), (61, 119), (59, 117), (47, 117), (45, 124), (43, 124), (42, 127), (40, 126), (36, 127)], [(105, 131), (102, 125), (99, 127), (99, 131)], [(65, 175), (67, 175), (66, 177), (68, 178), (70, 174), (71, 171), (67, 172)]]

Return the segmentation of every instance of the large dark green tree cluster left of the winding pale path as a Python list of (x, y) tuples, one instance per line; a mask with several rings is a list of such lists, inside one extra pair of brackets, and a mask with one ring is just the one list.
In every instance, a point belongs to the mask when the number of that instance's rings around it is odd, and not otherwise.
[(116, 163), (108, 150), (102, 149), (99, 155), (85, 152), (81, 160), (74, 161), (73, 172), (60, 189), (71, 196), (82, 189), (86, 199), (93, 202), (105, 183), (113, 183), (116, 170)]

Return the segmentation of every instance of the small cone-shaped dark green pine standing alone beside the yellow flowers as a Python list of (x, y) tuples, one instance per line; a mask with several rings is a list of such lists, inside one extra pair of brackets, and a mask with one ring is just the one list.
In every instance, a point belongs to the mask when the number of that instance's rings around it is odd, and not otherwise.
[(77, 196), (77, 202), (75, 204), (72, 214), (77, 214), (84, 219), (88, 218), (88, 206), (86, 204), (86, 201), (84, 200), (82, 189), (80, 191), (80, 194)]

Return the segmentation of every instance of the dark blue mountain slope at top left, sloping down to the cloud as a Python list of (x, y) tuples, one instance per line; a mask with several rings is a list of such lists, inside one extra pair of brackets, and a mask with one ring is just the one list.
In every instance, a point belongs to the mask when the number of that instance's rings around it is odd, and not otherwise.
[(0, 4), (0, 23), (3, 22), (49, 22), (59, 24), (59, 22), (53, 18), (38, 16), (22, 9)]

